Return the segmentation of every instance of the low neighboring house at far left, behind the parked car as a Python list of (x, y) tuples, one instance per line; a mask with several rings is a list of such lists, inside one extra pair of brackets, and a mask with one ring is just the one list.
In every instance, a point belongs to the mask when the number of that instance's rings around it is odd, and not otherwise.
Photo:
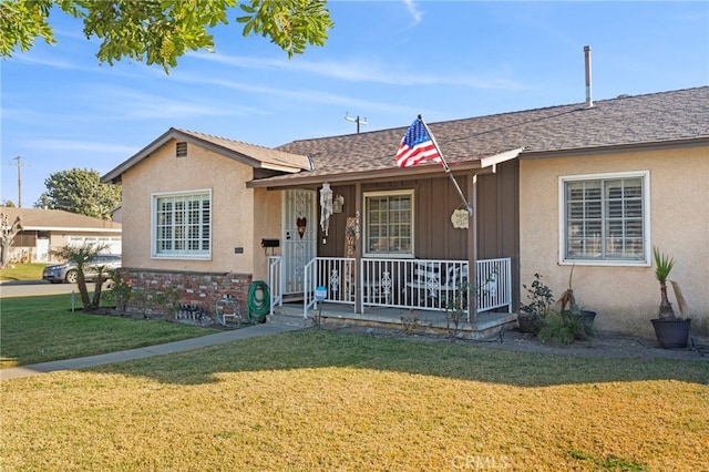
[(121, 225), (61, 209), (1, 207), (10, 223), (20, 216), (22, 230), (10, 247), (10, 261), (55, 261), (52, 250), (66, 244), (96, 243), (121, 254)]

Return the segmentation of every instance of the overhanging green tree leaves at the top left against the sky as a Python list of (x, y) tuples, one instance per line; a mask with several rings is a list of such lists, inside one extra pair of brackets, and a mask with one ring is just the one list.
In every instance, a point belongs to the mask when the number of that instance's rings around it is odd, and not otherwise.
[[(54, 43), (49, 24), (53, 6), (83, 20), (86, 39), (101, 39), (96, 57), (113, 65), (123, 58), (161, 64), (165, 72), (193, 50), (213, 51), (208, 30), (229, 24), (227, 12), (238, 0), (3, 0), (0, 3), (0, 53), (9, 58), (30, 50), (37, 38)], [(332, 28), (326, 0), (249, 0), (238, 4), (244, 35), (260, 34), (287, 52), (323, 45)]]

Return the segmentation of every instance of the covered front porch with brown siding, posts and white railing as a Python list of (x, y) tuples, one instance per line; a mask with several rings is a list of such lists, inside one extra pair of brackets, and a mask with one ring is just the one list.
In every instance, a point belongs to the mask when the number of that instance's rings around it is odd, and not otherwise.
[(466, 337), (516, 324), (517, 161), (459, 164), (456, 178), (405, 171), (253, 183), (282, 188), (271, 318), (438, 330), (456, 320)]

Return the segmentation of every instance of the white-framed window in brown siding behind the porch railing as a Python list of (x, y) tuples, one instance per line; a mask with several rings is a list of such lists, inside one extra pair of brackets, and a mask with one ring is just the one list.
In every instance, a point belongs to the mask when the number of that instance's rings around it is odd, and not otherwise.
[(413, 191), (364, 194), (363, 253), (413, 257)]

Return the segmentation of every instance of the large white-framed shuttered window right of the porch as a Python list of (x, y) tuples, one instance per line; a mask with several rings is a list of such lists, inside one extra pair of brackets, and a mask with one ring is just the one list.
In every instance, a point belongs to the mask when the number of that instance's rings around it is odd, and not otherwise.
[(649, 172), (559, 178), (561, 261), (649, 264)]

